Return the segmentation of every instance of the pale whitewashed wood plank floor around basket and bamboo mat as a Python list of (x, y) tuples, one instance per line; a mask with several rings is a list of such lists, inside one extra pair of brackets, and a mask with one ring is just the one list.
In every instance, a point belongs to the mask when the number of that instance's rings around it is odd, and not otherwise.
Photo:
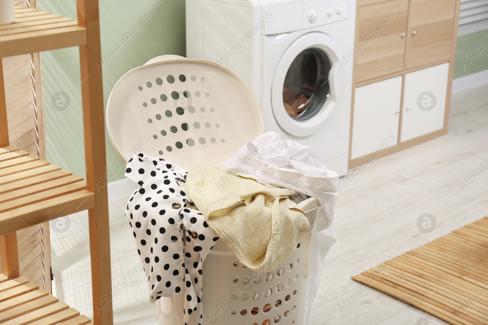
[[(350, 276), (488, 215), (488, 170), (464, 191), (460, 186), (480, 165), (488, 168), (488, 87), (453, 95), (447, 135), (375, 160), (354, 179), (343, 178), (334, 222), (339, 241), (325, 261), (308, 324), (447, 324)], [(113, 287), (120, 290), (115, 324), (157, 324), (123, 216), (125, 202), (110, 203)], [(417, 228), (422, 213), (436, 218), (433, 232)], [(60, 298), (90, 316), (86, 215), (70, 220), (69, 231), (52, 232), (55, 286)]]

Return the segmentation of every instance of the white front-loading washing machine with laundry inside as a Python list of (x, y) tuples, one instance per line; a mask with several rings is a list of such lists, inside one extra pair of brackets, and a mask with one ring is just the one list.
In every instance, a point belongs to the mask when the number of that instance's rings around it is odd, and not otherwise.
[(260, 103), (265, 132), (309, 146), (342, 176), (355, 9), (355, 0), (186, 0), (186, 56), (236, 72)]

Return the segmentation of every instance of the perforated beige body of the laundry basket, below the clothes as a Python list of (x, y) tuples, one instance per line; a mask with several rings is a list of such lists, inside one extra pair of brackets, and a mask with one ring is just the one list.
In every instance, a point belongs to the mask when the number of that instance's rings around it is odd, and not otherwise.
[[(306, 202), (308, 201), (308, 202)], [(313, 224), (318, 201), (300, 206)], [(278, 268), (256, 273), (245, 268), (218, 241), (203, 263), (203, 321), (207, 325), (302, 325), (308, 276), (310, 240), (302, 237), (297, 249)]]

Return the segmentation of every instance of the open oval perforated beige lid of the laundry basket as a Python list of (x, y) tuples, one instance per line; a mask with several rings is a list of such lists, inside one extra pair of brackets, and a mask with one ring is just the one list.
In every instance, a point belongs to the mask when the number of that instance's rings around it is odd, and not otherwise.
[(107, 102), (110, 140), (188, 169), (220, 164), (263, 133), (259, 104), (244, 81), (209, 60), (156, 57), (120, 78)]

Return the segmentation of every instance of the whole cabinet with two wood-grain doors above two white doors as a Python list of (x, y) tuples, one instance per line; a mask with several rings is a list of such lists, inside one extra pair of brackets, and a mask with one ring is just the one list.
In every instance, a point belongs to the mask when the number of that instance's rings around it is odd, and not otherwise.
[(460, 5), (357, 0), (349, 168), (447, 134)]

